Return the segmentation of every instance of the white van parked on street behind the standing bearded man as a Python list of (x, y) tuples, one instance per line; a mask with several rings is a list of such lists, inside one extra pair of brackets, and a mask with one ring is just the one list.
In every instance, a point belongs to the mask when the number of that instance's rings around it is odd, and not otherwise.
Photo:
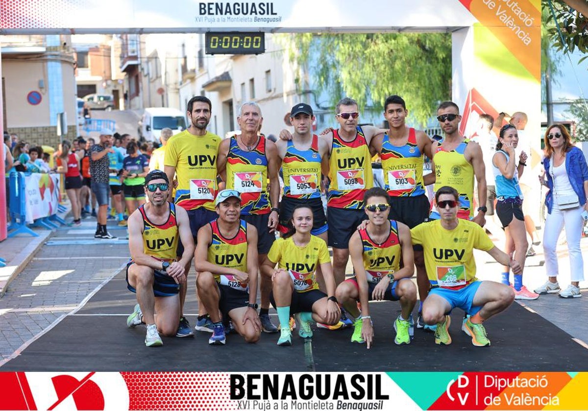
[(168, 107), (148, 107), (138, 123), (138, 134), (142, 140), (158, 142), (161, 130), (168, 127), (173, 134), (186, 129), (185, 113)]

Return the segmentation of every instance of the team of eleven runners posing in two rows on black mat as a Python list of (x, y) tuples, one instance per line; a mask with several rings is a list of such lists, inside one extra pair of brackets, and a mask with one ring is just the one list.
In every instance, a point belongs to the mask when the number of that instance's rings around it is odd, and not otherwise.
[[(195, 329), (211, 332), (212, 345), (225, 344), (233, 330), (250, 343), (262, 331), (279, 332), (278, 345), (291, 345), (292, 329), (311, 338), (315, 321), (329, 329), (353, 326), (351, 341), (370, 348), (370, 300), (400, 302), (400, 315), (390, 318), (398, 345), (411, 342), (415, 326), (449, 344), (456, 307), (466, 314), (462, 330), (473, 345), (490, 345), (483, 321), (512, 304), (515, 291), (478, 281), (473, 250), (487, 251), (515, 275), (522, 267), (483, 230), (486, 207), (473, 210), (474, 181), (477, 203), (486, 204), (482, 150), (459, 133), (455, 103), (437, 110), (442, 142), (406, 126), (401, 97), (390, 96), (384, 108), (389, 129), (361, 127), (358, 104), (342, 99), (335, 112), (339, 128), (317, 136), (312, 107), (299, 103), (290, 111), (293, 133), (283, 130), (273, 143), (260, 133), (257, 103), (243, 103), (241, 133), (222, 140), (206, 130), (211, 102), (193, 97), (191, 127), (169, 139), (165, 173), (146, 175), (149, 201), (128, 220), (127, 282), (138, 304), (127, 325), (147, 325), (148, 346), (162, 345), (160, 333), (193, 335), (183, 303), (194, 258)], [(375, 154), (382, 159), (383, 188), (373, 187)], [(425, 156), (434, 172), (423, 177)], [(429, 184), (435, 184), (432, 203)], [(346, 278), (349, 257), (353, 277)], [(410, 281), (415, 266), (417, 286)], [(270, 320), (270, 303), (279, 327)]]

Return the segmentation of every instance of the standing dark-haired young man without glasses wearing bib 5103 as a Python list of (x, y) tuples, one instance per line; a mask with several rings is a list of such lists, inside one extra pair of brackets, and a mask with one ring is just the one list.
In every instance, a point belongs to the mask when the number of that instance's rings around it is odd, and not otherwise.
[[(432, 158), (432, 141), (421, 130), (406, 127), (405, 100), (400, 96), (390, 96), (384, 103), (384, 117), (390, 129), (372, 140), (372, 147), (382, 157), (384, 188), (390, 196), (390, 215), (392, 220), (400, 221), (409, 228), (416, 227), (429, 218), (429, 200), (425, 192), (423, 166), (425, 156)], [(419, 318), (426, 291), (429, 288), (425, 272), (423, 248), (415, 244), (416, 279), (419, 287)], [(409, 321), (414, 323), (412, 314)], [(417, 320), (417, 327), (424, 326)]]

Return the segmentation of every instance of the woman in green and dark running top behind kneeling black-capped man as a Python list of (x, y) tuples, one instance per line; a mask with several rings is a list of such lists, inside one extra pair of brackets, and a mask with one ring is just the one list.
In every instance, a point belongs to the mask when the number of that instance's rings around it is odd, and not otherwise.
[(122, 189), (125, 193), (126, 209), (131, 215), (139, 206), (145, 204), (143, 183), (149, 173), (149, 160), (141, 154), (134, 140), (126, 145), (126, 153), (129, 155), (122, 161)]

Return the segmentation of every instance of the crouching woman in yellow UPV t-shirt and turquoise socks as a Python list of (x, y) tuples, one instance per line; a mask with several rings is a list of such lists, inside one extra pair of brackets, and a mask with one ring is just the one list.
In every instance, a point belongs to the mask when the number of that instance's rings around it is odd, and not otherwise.
[[(301, 338), (312, 337), (311, 319), (335, 325), (341, 315), (329, 251), (325, 241), (310, 234), (312, 224), (312, 208), (305, 204), (294, 207), (288, 233), (273, 243), (260, 267), (262, 275), (271, 277), (273, 282), (269, 299), (280, 321), (278, 345), (292, 345), (290, 313), (299, 313)], [(320, 291), (316, 282), (315, 271), (319, 265), (328, 294)]]

